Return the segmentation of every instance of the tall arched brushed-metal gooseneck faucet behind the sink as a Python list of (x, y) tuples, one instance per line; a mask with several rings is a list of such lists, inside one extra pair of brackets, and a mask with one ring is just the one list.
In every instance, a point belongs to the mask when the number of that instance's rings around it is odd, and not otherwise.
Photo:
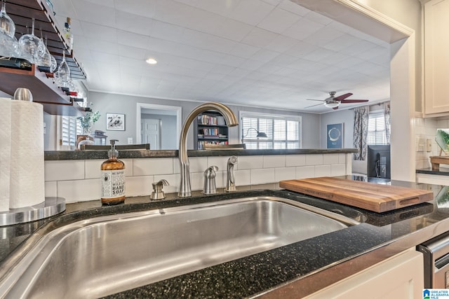
[(226, 120), (226, 125), (228, 127), (234, 127), (239, 125), (239, 121), (236, 118), (234, 112), (232, 112), (229, 107), (221, 103), (208, 102), (197, 106), (189, 116), (187, 116), (184, 125), (182, 125), (181, 135), (180, 135), (180, 146), (179, 146), (179, 159), (180, 159), (180, 190), (177, 193), (179, 197), (189, 197), (192, 196), (192, 187), (190, 185), (190, 169), (189, 169), (189, 156), (187, 155), (187, 132), (190, 125), (198, 116), (199, 113), (208, 110), (215, 110), (222, 113), (222, 116)]

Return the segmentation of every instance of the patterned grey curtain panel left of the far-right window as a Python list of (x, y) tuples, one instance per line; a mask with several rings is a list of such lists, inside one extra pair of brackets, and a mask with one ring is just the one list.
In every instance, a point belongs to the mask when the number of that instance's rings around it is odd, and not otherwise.
[(354, 160), (363, 161), (366, 158), (368, 116), (368, 106), (354, 108), (354, 148), (358, 149), (358, 153), (354, 153)]

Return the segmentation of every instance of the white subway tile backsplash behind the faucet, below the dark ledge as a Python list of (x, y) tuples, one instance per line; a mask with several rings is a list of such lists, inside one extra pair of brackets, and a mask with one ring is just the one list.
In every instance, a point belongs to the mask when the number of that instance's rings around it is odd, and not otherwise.
[[(351, 156), (352, 154), (239, 156), (239, 162), (234, 167), (235, 182), (241, 188), (259, 188), (258, 186), (278, 186), (279, 181), (288, 179), (340, 176), (346, 174), (348, 167), (350, 172)], [(229, 156), (190, 158), (192, 190), (203, 190), (203, 172), (213, 165), (219, 167), (215, 176), (217, 188), (225, 188), (228, 159)], [(46, 161), (46, 196), (65, 197), (66, 202), (100, 200), (102, 161)], [(127, 197), (151, 195), (152, 183), (161, 179), (166, 179), (170, 184), (163, 187), (164, 192), (178, 192), (180, 167), (177, 158), (123, 159), (123, 162), (126, 165)], [(424, 162), (423, 158), (422, 163)]]

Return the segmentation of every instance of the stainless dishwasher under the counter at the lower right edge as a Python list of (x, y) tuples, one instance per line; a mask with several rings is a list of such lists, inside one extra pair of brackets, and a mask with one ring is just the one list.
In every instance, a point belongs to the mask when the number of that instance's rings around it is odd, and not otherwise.
[(424, 288), (449, 288), (449, 232), (417, 246), (424, 254)]

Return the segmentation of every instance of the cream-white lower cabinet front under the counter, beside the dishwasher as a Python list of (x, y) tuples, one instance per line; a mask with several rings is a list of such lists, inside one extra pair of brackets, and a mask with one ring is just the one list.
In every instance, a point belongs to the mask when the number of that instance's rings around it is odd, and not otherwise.
[(423, 257), (413, 248), (305, 298), (422, 298), (423, 288)]

